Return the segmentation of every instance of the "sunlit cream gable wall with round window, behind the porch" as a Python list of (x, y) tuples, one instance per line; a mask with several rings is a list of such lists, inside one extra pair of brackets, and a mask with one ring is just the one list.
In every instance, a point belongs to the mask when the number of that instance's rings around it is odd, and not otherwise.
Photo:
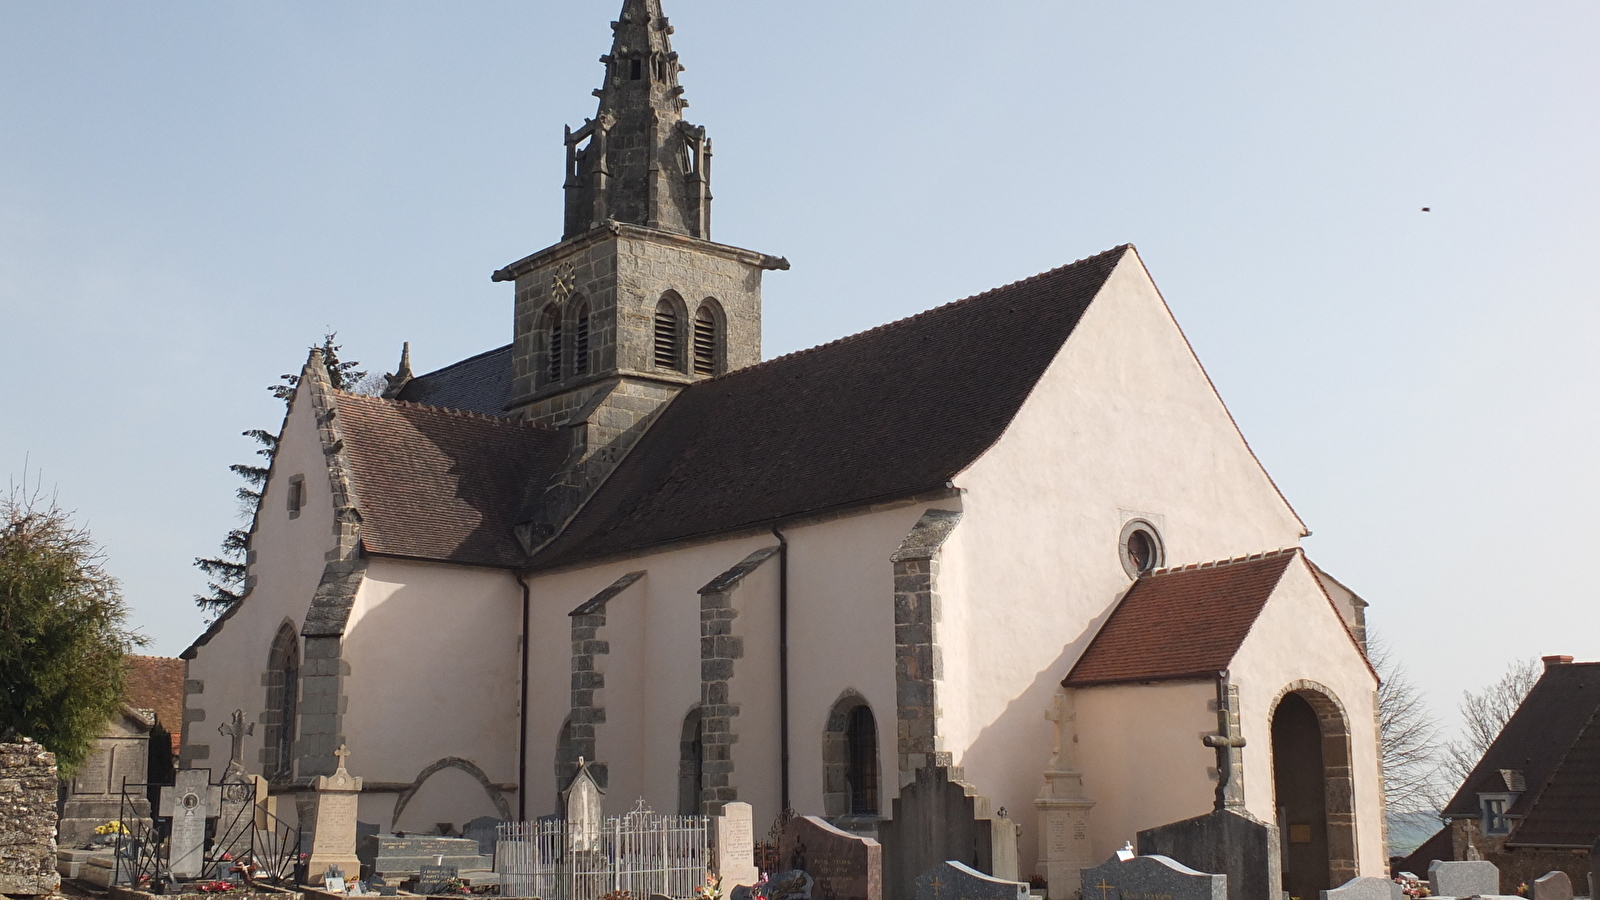
[[(1022, 823), (1029, 873), (1032, 799), (1053, 740), (1043, 713), (1130, 586), (1123, 524), (1154, 522), (1168, 565), (1296, 546), (1304, 527), (1133, 253), (1000, 440), (955, 482), (965, 516), (941, 588), (946, 620), (962, 626), (941, 629), (941, 730), (966, 777)], [(1086, 775), (1096, 791), (1130, 788)]]

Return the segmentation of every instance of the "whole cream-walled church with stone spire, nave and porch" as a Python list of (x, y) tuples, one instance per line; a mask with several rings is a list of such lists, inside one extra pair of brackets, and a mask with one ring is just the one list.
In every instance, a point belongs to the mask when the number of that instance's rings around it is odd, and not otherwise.
[(1291, 894), (1384, 874), (1366, 604), (1139, 253), (763, 360), (789, 263), (712, 240), (661, 0), (611, 30), (562, 237), (493, 272), (510, 343), (382, 397), (306, 360), (246, 594), (184, 653), (182, 765), (243, 709), (274, 793), (346, 745), (384, 830), (550, 815), (582, 759), (610, 812), (864, 834), (954, 765), (1024, 879), (1053, 809), (1099, 862), (1226, 781)]

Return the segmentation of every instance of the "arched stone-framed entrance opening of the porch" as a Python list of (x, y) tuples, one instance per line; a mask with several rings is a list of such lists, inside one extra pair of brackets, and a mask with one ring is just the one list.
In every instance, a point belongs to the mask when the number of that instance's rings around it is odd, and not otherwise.
[(1304, 900), (1355, 878), (1349, 717), (1320, 684), (1294, 682), (1274, 703), (1272, 791), (1283, 890)]

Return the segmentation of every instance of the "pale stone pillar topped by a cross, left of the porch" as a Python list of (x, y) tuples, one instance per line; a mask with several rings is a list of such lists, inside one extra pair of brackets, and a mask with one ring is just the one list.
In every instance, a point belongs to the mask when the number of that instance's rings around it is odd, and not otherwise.
[(1056, 703), (1045, 713), (1056, 724), (1056, 749), (1045, 769), (1038, 809), (1038, 868), (1050, 882), (1050, 900), (1069, 900), (1078, 892), (1078, 873), (1094, 865), (1090, 852), (1090, 809), (1094, 801), (1083, 793), (1078, 772), (1078, 725), (1074, 692), (1056, 692)]

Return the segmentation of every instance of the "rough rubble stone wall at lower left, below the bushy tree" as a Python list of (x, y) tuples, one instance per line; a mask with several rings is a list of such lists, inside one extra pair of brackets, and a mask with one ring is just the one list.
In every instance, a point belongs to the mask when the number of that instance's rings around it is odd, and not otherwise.
[(53, 894), (56, 874), (56, 754), (0, 743), (0, 894)]

